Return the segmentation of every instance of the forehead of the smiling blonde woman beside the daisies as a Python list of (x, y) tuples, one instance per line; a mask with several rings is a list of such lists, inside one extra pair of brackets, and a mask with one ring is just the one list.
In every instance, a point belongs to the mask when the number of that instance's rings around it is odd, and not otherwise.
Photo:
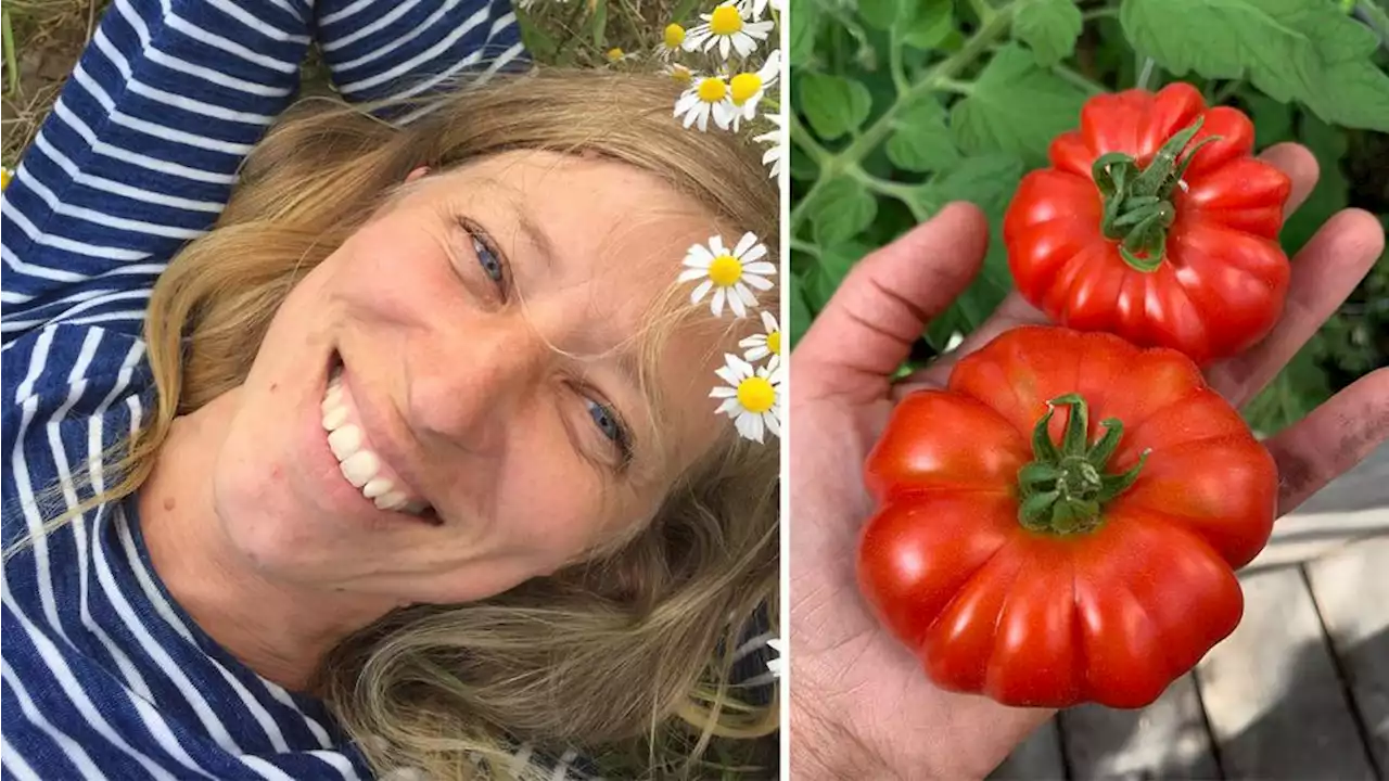
[(546, 151), (492, 156), (438, 185), (492, 232), (528, 309), (567, 313), (572, 328), (557, 346), (650, 371), (640, 414), (660, 421), (667, 456), (688, 463), (713, 443), (714, 370), (751, 327), (731, 331), (707, 306), (688, 306), (694, 283), (676, 288), (690, 245), (720, 232), (708, 210), (632, 165)]

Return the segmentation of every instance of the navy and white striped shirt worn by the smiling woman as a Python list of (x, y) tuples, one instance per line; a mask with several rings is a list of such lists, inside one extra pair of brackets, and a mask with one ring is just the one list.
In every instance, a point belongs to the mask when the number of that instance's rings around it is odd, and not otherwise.
[[(311, 38), (353, 100), (524, 61), (508, 0), (114, 0), (0, 197), (0, 548), (53, 516), (46, 489), (61, 510), (110, 484), (103, 449), (154, 400), (150, 289), (294, 99)], [(133, 498), (0, 571), (0, 778), (368, 777), (319, 702), (183, 613)]]

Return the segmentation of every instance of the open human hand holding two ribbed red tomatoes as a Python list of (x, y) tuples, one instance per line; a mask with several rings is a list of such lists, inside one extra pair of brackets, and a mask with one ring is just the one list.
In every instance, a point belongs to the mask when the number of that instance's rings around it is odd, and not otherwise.
[[(1295, 210), (1317, 181), (1296, 145), (1264, 160), (1293, 181)], [(872, 503), (863, 463), (893, 406), (939, 388), (960, 356), (1017, 325), (1045, 322), (1010, 296), (953, 353), (903, 382), (892, 375), (925, 324), (976, 272), (988, 243), (967, 204), (865, 257), (792, 353), (795, 420), (790, 507), (792, 767), (797, 778), (965, 778), (988, 774), (1050, 710), (1010, 709), (935, 688), (917, 657), (882, 630), (854, 573)], [(1267, 385), (1354, 289), (1383, 246), (1378, 221), (1346, 210), (1322, 225), (1292, 264), (1289, 296), (1258, 345), (1206, 370), (1239, 407)], [(1279, 470), (1279, 514), (1300, 504), (1389, 438), (1389, 370), (1370, 374), (1264, 442)]]

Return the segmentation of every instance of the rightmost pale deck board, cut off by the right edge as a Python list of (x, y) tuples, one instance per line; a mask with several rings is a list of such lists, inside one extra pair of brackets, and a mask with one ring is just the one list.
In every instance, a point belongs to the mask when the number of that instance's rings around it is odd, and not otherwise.
[(1389, 539), (1307, 566), (1313, 599), (1340, 661), (1381, 775), (1389, 768)]

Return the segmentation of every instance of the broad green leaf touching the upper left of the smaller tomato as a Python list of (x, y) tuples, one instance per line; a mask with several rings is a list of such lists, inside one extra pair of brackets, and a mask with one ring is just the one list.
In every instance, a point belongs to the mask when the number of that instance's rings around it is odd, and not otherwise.
[(950, 128), (964, 151), (1004, 151), (1042, 164), (1051, 139), (1079, 124), (1085, 97), (1010, 43), (983, 68), (970, 94), (954, 104)]

